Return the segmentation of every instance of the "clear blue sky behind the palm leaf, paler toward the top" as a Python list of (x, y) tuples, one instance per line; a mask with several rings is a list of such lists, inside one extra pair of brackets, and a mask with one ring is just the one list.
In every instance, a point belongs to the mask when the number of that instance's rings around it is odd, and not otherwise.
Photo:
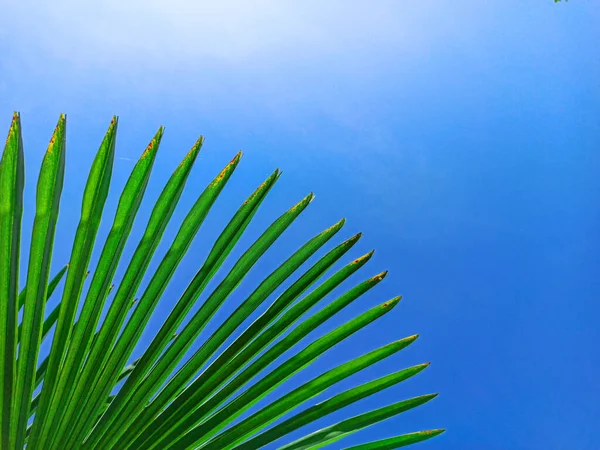
[[(142, 343), (239, 204), (279, 167), (283, 176), (206, 293), (276, 217), (310, 191), (316, 199), (215, 320), (342, 217), (346, 226), (326, 249), (362, 231), (342, 263), (376, 253), (336, 292), (390, 274), (311, 338), (395, 295), (404, 299), (275, 397), (419, 333), (410, 348), (317, 400), (409, 365), (431, 361), (429, 369), (317, 425), (439, 392), (343, 444), (447, 428), (416, 448), (600, 448), (596, 1), (22, 0), (1, 10), (0, 118), (7, 131), (12, 112), (21, 112), (24, 244), (41, 158), (59, 113), (68, 115), (57, 270), (69, 259), (86, 173), (113, 114), (117, 156), (99, 240), (135, 160), (166, 128), (126, 256), (199, 135), (205, 146), (158, 259), (198, 193), (244, 151)], [(98, 248), (94, 255), (92, 268)]]

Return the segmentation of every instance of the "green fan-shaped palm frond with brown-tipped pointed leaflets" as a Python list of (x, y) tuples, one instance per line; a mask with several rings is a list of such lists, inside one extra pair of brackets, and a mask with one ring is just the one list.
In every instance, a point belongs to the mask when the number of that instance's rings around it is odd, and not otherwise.
[[(13, 117), (0, 161), (0, 450), (25, 446), (28, 450), (258, 449), (285, 440), (289, 433), (407, 380), (428, 366), (409, 367), (310, 405), (311, 399), (339, 381), (391, 357), (417, 339), (416, 335), (409, 336), (331, 368), (261, 409), (251, 409), (335, 345), (390, 313), (400, 300), (396, 297), (368, 309), (298, 348), (309, 333), (374, 288), (387, 274), (366, 279), (307, 315), (373, 254), (354, 259), (326, 276), (360, 239), (359, 233), (329, 250), (292, 280), (301, 266), (342, 229), (344, 220), (307, 241), (265, 277), (186, 359), (213, 316), (313, 199), (309, 194), (267, 227), (181, 328), (277, 182), (279, 170), (242, 203), (150, 345), (128, 364), (173, 274), (240, 162), (241, 153), (198, 196), (168, 251), (149, 273), (148, 267), (202, 147), (200, 138), (175, 169), (152, 206), (133, 255), (122, 260), (160, 146), (161, 127), (133, 168), (110, 232), (101, 243), (96, 267), (90, 269), (109, 195), (117, 126), (115, 117), (93, 161), (69, 264), (51, 278), (65, 176), (66, 117), (60, 116), (38, 177), (26, 285), (19, 293), (25, 168), (20, 117), (17, 113)], [(115, 280), (119, 265), (125, 272), (122, 279)], [(84, 289), (90, 270), (91, 281)], [(138, 293), (145, 277), (149, 281)], [(62, 298), (47, 313), (46, 304), (63, 278)], [(319, 284), (321, 278), (324, 281)], [(247, 319), (288, 281), (289, 286), (244, 329)], [(138, 295), (139, 301), (134, 300)], [(105, 306), (108, 312), (102, 317)], [(42, 358), (40, 347), (50, 338), (50, 352)], [(231, 343), (224, 347), (228, 340)], [(284, 361), (272, 367), (280, 357)], [(339, 448), (337, 441), (345, 436), (426, 403), (435, 395), (368, 411), (308, 432), (282, 448), (316, 449), (329, 444)], [(250, 415), (240, 420), (247, 411)], [(279, 419), (283, 421), (272, 426)], [(352, 448), (398, 448), (441, 432), (410, 433)]]

